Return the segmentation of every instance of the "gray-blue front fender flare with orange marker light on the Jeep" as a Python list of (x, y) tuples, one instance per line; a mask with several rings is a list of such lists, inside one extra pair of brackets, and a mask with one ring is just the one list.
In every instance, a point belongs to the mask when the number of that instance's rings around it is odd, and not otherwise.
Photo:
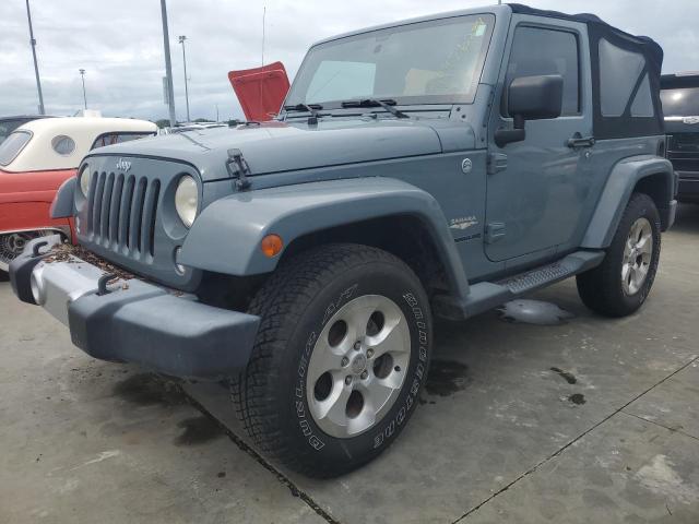
[(310, 233), (392, 215), (423, 221), (453, 294), (465, 297), (469, 283), (441, 207), (426, 191), (392, 178), (310, 182), (223, 198), (194, 221), (178, 260), (229, 275), (270, 273), (280, 255), (262, 253), (260, 242), (269, 234), (280, 235), (288, 246)]

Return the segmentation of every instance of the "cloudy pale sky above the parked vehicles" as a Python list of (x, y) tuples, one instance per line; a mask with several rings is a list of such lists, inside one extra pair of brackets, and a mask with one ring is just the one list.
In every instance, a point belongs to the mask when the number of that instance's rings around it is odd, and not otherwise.
[[(227, 72), (265, 62), (296, 73), (310, 44), (394, 20), (483, 5), (489, 0), (168, 0), (178, 119), (185, 84), (178, 35), (187, 35), (191, 118), (241, 117)], [(533, 7), (593, 12), (629, 33), (656, 39), (665, 72), (699, 70), (697, 0), (530, 0)], [(158, 0), (31, 0), (44, 102), (52, 115), (82, 108), (78, 70), (86, 70), (87, 105), (105, 116), (166, 118)], [(0, 0), (0, 115), (35, 112), (36, 84), (25, 0)]]

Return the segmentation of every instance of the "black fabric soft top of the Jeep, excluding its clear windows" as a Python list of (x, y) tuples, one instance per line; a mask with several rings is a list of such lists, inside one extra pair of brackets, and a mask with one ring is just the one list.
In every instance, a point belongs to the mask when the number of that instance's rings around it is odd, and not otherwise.
[[(638, 136), (638, 135), (653, 135), (663, 134), (663, 112), (660, 102), (660, 88), (661, 88), (661, 70), (663, 67), (663, 48), (652, 38), (648, 36), (635, 36), (626, 33), (617, 27), (614, 27), (602, 19), (590, 13), (580, 14), (567, 14), (558, 11), (546, 11), (541, 9), (530, 8), (521, 3), (508, 4), (513, 13), (529, 14), (534, 16), (545, 16), (549, 19), (568, 20), (572, 22), (581, 22), (588, 25), (588, 34), (590, 37), (590, 50), (592, 58), (592, 75), (593, 75), (593, 103), (594, 103), (594, 127), (595, 135), (600, 139), (614, 139), (625, 136)], [(631, 81), (636, 82), (632, 90), (626, 110), (623, 115), (603, 115), (602, 111), (602, 97), (604, 93), (601, 93), (601, 74), (604, 71), (601, 69), (600, 58), (600, 40), (606, 40), (614, 46), (629, 52), (640, 53), (645, 59), (645, 63), (641, 74), (638, 79), (633, 78)], [(608, 64), (608, 62), (607, 62)], [(644, 88), (645, 78), (648, 75), (648, 82), (650, 83), (652, 104), (654, 108), (653, 117), (633, 116), (632, 106), (635, 105), (636, 96), (639, 93), (639, 88)]]

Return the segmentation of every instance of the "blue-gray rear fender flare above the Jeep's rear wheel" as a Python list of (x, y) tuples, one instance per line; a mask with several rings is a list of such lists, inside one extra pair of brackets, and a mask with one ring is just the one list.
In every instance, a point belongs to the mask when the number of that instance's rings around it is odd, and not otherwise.
[[(675, 175), (670, 160), (652, 155), (625, 158), (616, 164), (609, 174), (581, 247), (587, 249), (609, 247), (633, 188), (639, 180), (654, 175), (662, 175), (667, 184), (665, 189), (670, 198), (666, 206), (670, 209), (675, 191)], [(661, 213), (663, 211), (664, 209), (660, 210)]]

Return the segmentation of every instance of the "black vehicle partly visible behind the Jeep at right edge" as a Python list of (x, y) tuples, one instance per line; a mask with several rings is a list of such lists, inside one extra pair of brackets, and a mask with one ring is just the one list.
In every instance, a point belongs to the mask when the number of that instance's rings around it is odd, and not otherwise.
[(679, 176), (677, 200), (699, 203), (699, 72), (664, 74), (661, 90), (667, 158)]

